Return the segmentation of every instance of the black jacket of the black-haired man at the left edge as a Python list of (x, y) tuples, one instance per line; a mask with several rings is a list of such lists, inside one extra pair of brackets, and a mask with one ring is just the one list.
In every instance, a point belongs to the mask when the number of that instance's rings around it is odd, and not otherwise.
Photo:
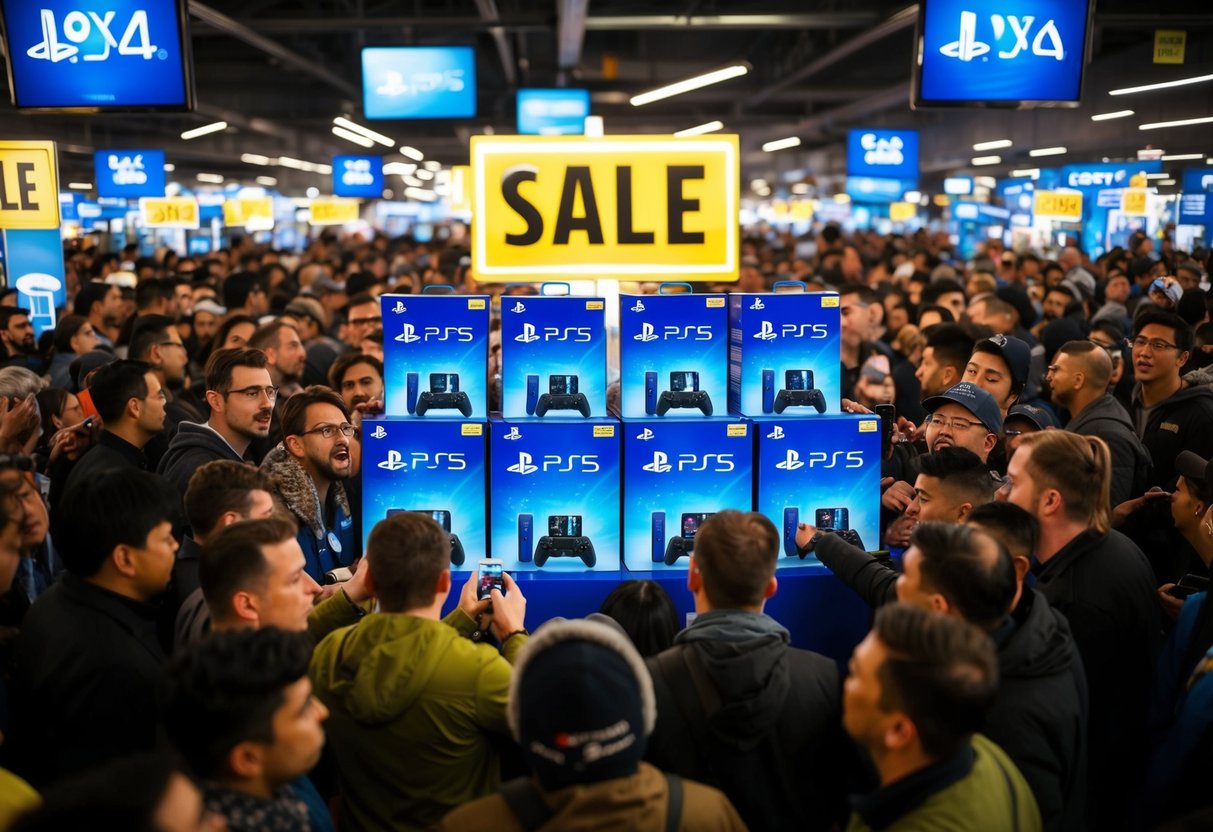
[(154, 608), (66, 572), (25, 616), (13, 656), (13, 768), (35, 786), (152, 751), (164, 665)]

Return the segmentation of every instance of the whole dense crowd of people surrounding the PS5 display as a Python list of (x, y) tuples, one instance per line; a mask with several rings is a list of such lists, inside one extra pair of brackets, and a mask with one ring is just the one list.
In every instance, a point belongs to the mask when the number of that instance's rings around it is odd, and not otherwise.
[(687, 627), (654, 581), (530, 621), (361, 517), (378, 297), (500, 295), (466, 253), (69, 249), (40, 338), (0, 296), (0, 830), (1213, 822), (1208, 252), (745, 238), (705, 289), (837, 291), (842, 408), (896, 408), (878, 551), (797, 534), (872, 609), (843, 669), (764, 612), (753, 512), (704, 522)]

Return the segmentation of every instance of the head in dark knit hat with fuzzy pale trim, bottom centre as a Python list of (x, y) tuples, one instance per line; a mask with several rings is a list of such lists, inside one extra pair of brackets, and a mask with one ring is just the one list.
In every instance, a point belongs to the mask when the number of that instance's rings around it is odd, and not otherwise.
[(552, 621), (518, 655), (506, 717), (543, 790), (627, 777), (656, 722), (653, 678), (609, 623)]

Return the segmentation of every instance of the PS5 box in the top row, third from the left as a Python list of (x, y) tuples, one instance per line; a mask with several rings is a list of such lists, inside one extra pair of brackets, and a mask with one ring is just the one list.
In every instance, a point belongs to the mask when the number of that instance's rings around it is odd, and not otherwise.
[(724, 295), (620, 295), (620, 416), (696, 418), (728, 410)]

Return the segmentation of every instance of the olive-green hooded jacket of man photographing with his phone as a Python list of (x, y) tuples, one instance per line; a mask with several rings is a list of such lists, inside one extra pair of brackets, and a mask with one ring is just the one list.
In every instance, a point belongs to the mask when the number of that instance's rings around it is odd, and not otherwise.
[(509, 736), (509, 663), (526, 637), (506, 640), (507, 661), (463, 637), (474, 628), (460, 610), (372, 612), (317, 645), (309, 674), (330, 713), (343, 832), (426, 830), (500, 788), (494, 742)]

